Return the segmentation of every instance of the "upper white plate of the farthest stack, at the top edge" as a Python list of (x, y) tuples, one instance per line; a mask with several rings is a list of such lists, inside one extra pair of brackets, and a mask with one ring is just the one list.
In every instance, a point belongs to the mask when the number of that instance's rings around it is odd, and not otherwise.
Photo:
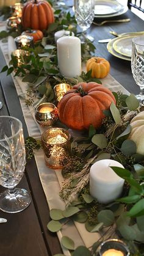
[(95, 1), (95, 15), (111, 15), (120, 12), (123, 8), (123, 5), (117, 1)]

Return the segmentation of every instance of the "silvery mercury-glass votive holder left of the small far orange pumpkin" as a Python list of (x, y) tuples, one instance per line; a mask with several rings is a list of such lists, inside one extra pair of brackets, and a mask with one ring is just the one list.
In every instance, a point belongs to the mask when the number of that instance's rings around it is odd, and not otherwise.
[(15, 38), (15, 43), (17, 49), (21, 49), (24, 46), (33, 48), (34, 38), (30, 35), (20, 35), (19, 37)]

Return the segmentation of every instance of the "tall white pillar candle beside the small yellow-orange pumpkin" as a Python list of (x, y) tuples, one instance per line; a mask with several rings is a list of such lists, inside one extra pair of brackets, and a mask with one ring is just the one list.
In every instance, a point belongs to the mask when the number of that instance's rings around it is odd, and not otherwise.
[(81, 75), (81, 40), (72, 36), (59, 38), (57, 59), (63, 76), (74, 78)]

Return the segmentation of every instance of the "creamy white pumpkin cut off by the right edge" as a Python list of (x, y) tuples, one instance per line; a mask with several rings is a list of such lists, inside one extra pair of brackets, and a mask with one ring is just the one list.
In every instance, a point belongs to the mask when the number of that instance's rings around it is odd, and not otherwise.
[(131, 133), (129, 139), (137, 145), (137, 153), (144, 155), (144, 111), (131, 120)]

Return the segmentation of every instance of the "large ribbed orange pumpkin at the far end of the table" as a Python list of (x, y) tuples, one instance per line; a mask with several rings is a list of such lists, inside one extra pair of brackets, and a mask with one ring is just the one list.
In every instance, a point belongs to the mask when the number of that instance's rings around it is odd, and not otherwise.
[(45, 0), (26, 2), (23, 7), (21, 22), (24, 29), (47, 29), (54, 22), (54, 13), (51, 5)]

